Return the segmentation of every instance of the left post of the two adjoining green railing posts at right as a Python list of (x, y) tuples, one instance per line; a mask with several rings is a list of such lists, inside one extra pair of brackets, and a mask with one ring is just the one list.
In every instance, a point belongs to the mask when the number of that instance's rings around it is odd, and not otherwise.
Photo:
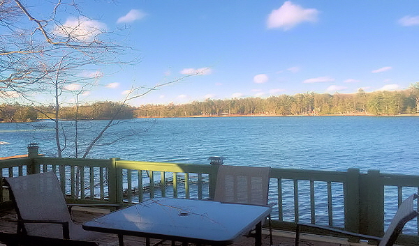
[(344, 187), (345, 229), (360, 233), (360, 169), (348, 169)]

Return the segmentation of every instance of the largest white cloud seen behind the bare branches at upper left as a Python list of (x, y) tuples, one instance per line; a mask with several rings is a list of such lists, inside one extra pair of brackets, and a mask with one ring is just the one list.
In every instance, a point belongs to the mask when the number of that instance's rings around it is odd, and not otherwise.
[(106, 25), (102, 22), (90, 20), (87, 17), (69, 17), (62, 26), (55, 26), (53, 32), (58, 36), (90, 42), (105, 29)]

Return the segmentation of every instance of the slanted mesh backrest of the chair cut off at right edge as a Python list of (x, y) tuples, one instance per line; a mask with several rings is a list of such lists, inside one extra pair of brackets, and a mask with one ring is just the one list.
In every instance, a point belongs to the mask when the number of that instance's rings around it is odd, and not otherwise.
[(418, 194), (413, 194), (400, 204), (395, 217), (393, 217), (390, 226), (383, 236), (379, 246), (389, 246), (395, 243), (395, 240), (402, 232), (404, 224), (418, 216), (418, 210), (415, 209), (414, 200), (418, 198)]

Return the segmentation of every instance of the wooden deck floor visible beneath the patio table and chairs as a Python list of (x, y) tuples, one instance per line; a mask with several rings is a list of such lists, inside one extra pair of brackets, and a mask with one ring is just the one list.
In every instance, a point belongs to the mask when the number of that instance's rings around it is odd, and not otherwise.
[[(77, 222), (85, 222), (88, 220), (93, 219), (94, 217), (103, 215), (104, 213), (109, 213), (108, 210), (103, 209), (96, 209), (96, 208), (74, 208), (73, 209), (73, 217), (74, 220)], [(6, 231), (15, 233), (17, 224), (14, 222), (16, 218), (16, 214), (14, 210), (0, 210), (0, 231)], [(270, 245), (269, 243), (269, 236), (268, 231), (263, 231), (263, 246)], [(285, 232), (285, 231), (274, 231), (274, 246), (292, 246), (294, 245), (294, 233)], [(152, 240), (152, 245), (154, 243), (158, 243), (159, 240)], [(102, 238), (99, 242), (99, 245), (103, 246), (117, 246), (118, 240), (117, 236), (109, 235), (105, 238)], [(145, 238), (138, 238), (138, 237), (124, 237), (124, 243), (126, 246), (142, 246), (145, 245)], [(2, 245), (0, 243), (0, 245)], [(171, 242), (163, 242), (162, 245), (171, 245)], [(179, 245), (179, 244), (177, 244)], [(241, 237), (237, 238), (236, 242), (233, 246), (253, 246), (254, 239), (253, 238), (246, 238)], [(317, 245), (325, 245), (325, 246), (344, 246), (344, 245), (353, 245), (353, 246), (364, 246), (367, 243), (348, 243), (346, 240), (339, 239), (339, 238), (331, 238), (331, 237), (323, 237), (323, 236), (310, 236), (310, 235), (302, 235), (302, 239), (300, 240), (300, 245), (302, 246), (317, 246)]]

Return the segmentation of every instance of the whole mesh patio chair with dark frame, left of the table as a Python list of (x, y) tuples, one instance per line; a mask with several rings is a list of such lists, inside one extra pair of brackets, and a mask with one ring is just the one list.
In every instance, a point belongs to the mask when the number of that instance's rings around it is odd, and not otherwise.
[(84, 231), (81, 224), (72, 220), (71, 208), (69, 210), (53, 172), (4, 179), (15, 203), (18, 234), (84, 241), (94, 241), (106, 235)]

